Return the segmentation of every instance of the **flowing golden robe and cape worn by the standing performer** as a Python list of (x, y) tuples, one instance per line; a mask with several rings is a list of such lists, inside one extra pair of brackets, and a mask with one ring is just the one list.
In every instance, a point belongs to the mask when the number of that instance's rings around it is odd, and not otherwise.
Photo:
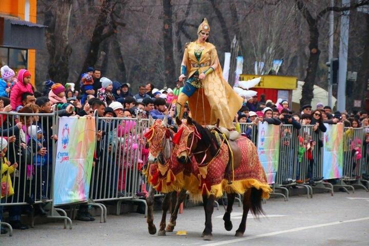
[[(188, 77), (191, 77), (197, 70), (201, 74), (215, 61), (218, 61), (218, 67), (202, 80), (202, 88), (188, 99), (191, 117), (201, 125), (215, 125), (216, 120), (220, 119), (221, 127), (232, 129), (234, 128), (234, 116), (241, 109), (243, 99), (224, 80), (215, 46), (205, 43), (200, 61), (194, 55), (196, 47), (196, 42), (191, 42), (185, 48), (184, 56)], [(199, 68), (200, 64), (210, 64), (210, 66)]]

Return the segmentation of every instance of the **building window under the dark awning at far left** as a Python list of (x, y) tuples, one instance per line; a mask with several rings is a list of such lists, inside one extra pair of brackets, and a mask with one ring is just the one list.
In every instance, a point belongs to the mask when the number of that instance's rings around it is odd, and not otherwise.
[(8, 65), (14, 72), (27, 68), (28, 51), (0, 47), (0, 66)]

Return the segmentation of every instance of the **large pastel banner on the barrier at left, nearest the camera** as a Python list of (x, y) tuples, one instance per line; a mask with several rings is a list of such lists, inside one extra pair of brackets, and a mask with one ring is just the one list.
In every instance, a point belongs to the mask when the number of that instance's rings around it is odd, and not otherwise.
[(55, 205), (89, 199), (95, 142), (94, 118), (60, 118), (54, 176)]

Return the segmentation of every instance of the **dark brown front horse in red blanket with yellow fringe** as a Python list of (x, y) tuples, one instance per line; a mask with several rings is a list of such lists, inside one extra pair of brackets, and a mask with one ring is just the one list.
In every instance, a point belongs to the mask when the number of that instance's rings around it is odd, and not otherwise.
[(179, 128), (173, 138), (173, 152), (180, 163), (196, 162), (198, 170), (194, 170), (194, 175), (201, 179), (197, 191), (191, 189), (190, 195), (193, 199), (202, 196), (205, 210), (205, 229), (202, 235), (204, 240), (212, 240), (213, 201), (223, 196), (224, 191), (228, 198), (223, 216), (227, 231), (233, 227), (230, 215), (235, 195), (244, 195), (242, 220), (235, 233), (236, 237), (242, 237), (249, 210), (255, 216), (264, 214), (262, 199), (269, 198), (271, 192), (255, 145), (243, 136), (235, 141), (228, 141), (226, 137), (213, 134), (209, 129), (198, 125), (190, 117), (186, 122), (177, 119), (177, 124)]

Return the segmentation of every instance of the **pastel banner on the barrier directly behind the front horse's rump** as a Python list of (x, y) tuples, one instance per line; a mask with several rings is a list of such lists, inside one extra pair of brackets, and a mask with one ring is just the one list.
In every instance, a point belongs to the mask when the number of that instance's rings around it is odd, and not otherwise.
[(279, 162), (279, 126), (259, 122), (257, 154), (267, 175), (268, 183), (274, 183)]

